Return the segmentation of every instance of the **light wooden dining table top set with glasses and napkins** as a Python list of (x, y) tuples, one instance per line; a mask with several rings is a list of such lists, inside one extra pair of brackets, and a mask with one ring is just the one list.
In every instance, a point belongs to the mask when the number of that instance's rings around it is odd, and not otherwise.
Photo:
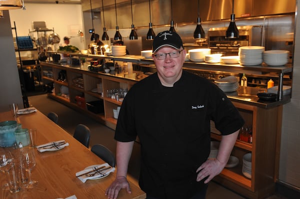
[[(0, 121), (13, 120), (10, 112), (0, 113)], [(90, 165), (104, 162), (89, 149), (75, 140), (70, 134), (54, 124), (39, 111), (27, 115), (20, 115), (16, 121), (22, 128), (37, 129), (37, 145), (51, 141), (65, 140), (69, 146), (54, 152), (40, 153), (34, 149), (36, 166), (32, 170), (32, 180), (38, 185), (32, 189), (21, 188), (18, 193), (0, 189), (1, 199), (57, 199), (75, 195), (77, 199), (107, 199), (104, 195), (106, 188), (115, 179), (115, 172), (99, 180), (88, 180), (82, 183), (75, 177), (75, 173)], [(0, 148), (3, 150), (4, 148)], [(9, 149), (13, 154), (17, 149)], [(4, 182), (4, 175), (0, 175), (0, 183)], [(121, 190), (118, 199), (144, 199), (145, 193), (135, 182), (129, 180), (132, 193)]]

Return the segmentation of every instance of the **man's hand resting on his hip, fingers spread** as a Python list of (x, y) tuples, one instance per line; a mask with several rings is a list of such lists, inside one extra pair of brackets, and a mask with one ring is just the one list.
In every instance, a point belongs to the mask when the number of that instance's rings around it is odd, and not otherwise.
[(225, 164), (220, 163), (217, 159), (208, 159), (206, 160), (198, 169), (196, 172), (199, 172), (197, 175), (197, 182), (201, 181), (205, 177), (208, 177), (204, 183), (208, 183), (221, 173), (221, 171), (224, 169)]

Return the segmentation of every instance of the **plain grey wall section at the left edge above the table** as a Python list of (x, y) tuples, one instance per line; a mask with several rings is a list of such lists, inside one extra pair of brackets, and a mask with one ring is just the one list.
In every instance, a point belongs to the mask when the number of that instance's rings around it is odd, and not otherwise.
[(23, 108), (9, 13), (3, 10), (3, 14), (4, 18), (0, 18), (0, 112), (8, 111), (11, 103)]

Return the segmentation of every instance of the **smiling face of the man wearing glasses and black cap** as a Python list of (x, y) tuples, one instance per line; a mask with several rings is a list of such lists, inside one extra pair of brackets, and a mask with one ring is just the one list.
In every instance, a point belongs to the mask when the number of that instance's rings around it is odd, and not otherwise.
[[(175, 51), (181, 51), (178, 57), (171, 58), (169, 54), (166, 54), (165, 59), (157, 59), (155, 57), (155, 55), (160, 53), (171, 53)], [(178, 79), (180, 79), (185, 54), (186, 51), (184, 49), (180, 48), (179, 50), (177, 50), (169, 46), (163, 46), (159, 48), (154, 54), (152, 54), (152, 59), (156, 66), (158, 77), (163, 85), (164, 83), (173, 84)]]

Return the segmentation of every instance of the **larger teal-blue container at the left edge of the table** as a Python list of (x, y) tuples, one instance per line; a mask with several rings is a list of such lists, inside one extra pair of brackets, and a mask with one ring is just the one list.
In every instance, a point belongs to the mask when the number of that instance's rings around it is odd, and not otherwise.
[(12, 147), (15, 143), (16, 121), (0, 122), (0, 147)]

